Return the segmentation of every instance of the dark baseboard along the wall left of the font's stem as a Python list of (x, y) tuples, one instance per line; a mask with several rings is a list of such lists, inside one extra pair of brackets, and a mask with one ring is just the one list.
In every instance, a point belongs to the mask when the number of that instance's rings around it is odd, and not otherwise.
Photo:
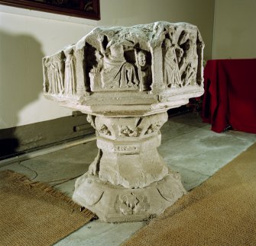
[(79, 112), (69, 117), (0, 129), (0, 160), (94, 133), (86, 114)]

